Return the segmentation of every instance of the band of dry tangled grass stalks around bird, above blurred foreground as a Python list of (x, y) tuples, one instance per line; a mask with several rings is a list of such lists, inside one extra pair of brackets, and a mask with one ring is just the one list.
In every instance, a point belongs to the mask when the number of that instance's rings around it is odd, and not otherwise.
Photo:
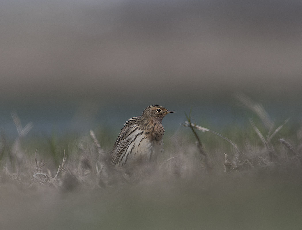
[[(250, 109), (259, 117), (261, 123), (257, 125), (252, 119), (249, 119), (251, 125), (249, 132), (252, 130), (259, 142), (253, 143), (249, 139), (240, 139), (239, 141), (244, 141), (244, 143), (237, 145), (236, 140), (232, 141), (220, 133), (193, 124), (191, 115), (189, 115), (187, 121), (182, 125), (192, 130), (196, 145), (192, 139), (188, 141), (189, 136), (184, 136), (181, 132), (175, 133), (174, 136), (170, 137), (168, 148), (165, 148), (164, 154), (157, 162), (143, 167), (123, 169), (110, 166), (108, 163), (108, 151), (110, 150), (102, 149), (102, 143), (98, 142), (93, 131), (90, 131), (89, 136), (69, 139), (68, 154), (65, 149), (58, 152), (63, 149), (62, 146), (53, 146), (51, 148), (53, 153), (47, 159), (43, 159), (45, 154), (40, 154), (47, 152), (45, 149), (37, 149), (33, 157), (32, 154), (26, 153), (28, 148), (24, 147), (26, 145), (24, 138), (33, 124), (28, 123), (23, 128), (17, 114), (13, 112), (12, 118), (19, 136), (9, 147), (5, 135), (1, 134), (0, 176), (1, 178), (7, 176), (27, 187), (32, 186), (32, 184), (43, 184), (70, 189), (81, 184), (89, 185), (92, 188), (97, 186), (105, 188), (112, 186), (117, 181), (127, 183), (128, 181), (140, 180), (146, 175), (158, 173), (186, 178), (193, 174), (221, 174), (223, 172), (258, 169), (270, 171), (276, 168), (300, 170), (302, 138), (300, 137), (300, 141), (295, 144), (297, 147), (294, 147), (287, 141), (286, 137), (278, 137), (278, 133), (288, 120), (276, 126), (261, 104), (254, 103), (243, 94), (236, 95), (236, 98), (243, 107)], [(258, 126), (261, 127), (258, 128)], [(198, 131), (209, 132), (221, 138), (221, 143), (226, 142), (209, 148), (207, 143), (202, 143)], [(57, 138), (51, 137), (50, 139)], [(273, 142), (274, 139), (279, 140), (279, 142)], [(56, 141), (50, 142), (55, 143)], [(227, 143), (229, 147), (225, 148)], [(238, 146), (243, 147), (239, 148)]]

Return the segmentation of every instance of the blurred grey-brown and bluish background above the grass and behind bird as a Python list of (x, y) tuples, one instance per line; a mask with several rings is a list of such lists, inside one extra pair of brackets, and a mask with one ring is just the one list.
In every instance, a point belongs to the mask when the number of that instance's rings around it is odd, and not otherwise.
[[(0, 0), (0, 126), (120, 129), (150, 104), (224, 125), (243, 92), (300, 120), (300, 0)], [(238, 118), (238, 119), (237, 119)], [(202, 124), (201, 124), (202, 125)]]

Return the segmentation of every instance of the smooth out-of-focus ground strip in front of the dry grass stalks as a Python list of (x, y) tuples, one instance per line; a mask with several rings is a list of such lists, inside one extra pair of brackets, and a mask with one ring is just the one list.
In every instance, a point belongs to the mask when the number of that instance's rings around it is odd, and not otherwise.
[(301, 229), (299, 172), (153, 176), (62, 192), (2, 183), (2, 229)]

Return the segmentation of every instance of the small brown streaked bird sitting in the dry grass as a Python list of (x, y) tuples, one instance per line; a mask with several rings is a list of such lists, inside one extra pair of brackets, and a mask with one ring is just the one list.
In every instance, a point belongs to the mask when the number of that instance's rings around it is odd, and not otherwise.
[(162, 136), (165, 129), (162, 119), (168, 113), (160, 105), (146, 107), (142, 115), (130, 118), (121, 129), (111, 151), (113, 166), (128, 166), (150, 162), (163, 150)]

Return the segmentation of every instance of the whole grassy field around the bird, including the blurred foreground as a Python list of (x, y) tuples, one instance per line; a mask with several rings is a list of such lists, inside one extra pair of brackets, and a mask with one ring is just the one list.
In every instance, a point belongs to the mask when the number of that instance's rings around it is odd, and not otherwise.
[[(165, 135), (165, 152), (142, 167), (115, 169), (115, 136), (1, 134), (1, 229), (301, 229), (301, 126), (254, 114), (210, 130), (190, 113)], [(192, 123), (190, 123), (192, 122)], [(187, 126), (187, 127), (185, 127)], [(218, 132), (218, 133), (216, 133)]]

